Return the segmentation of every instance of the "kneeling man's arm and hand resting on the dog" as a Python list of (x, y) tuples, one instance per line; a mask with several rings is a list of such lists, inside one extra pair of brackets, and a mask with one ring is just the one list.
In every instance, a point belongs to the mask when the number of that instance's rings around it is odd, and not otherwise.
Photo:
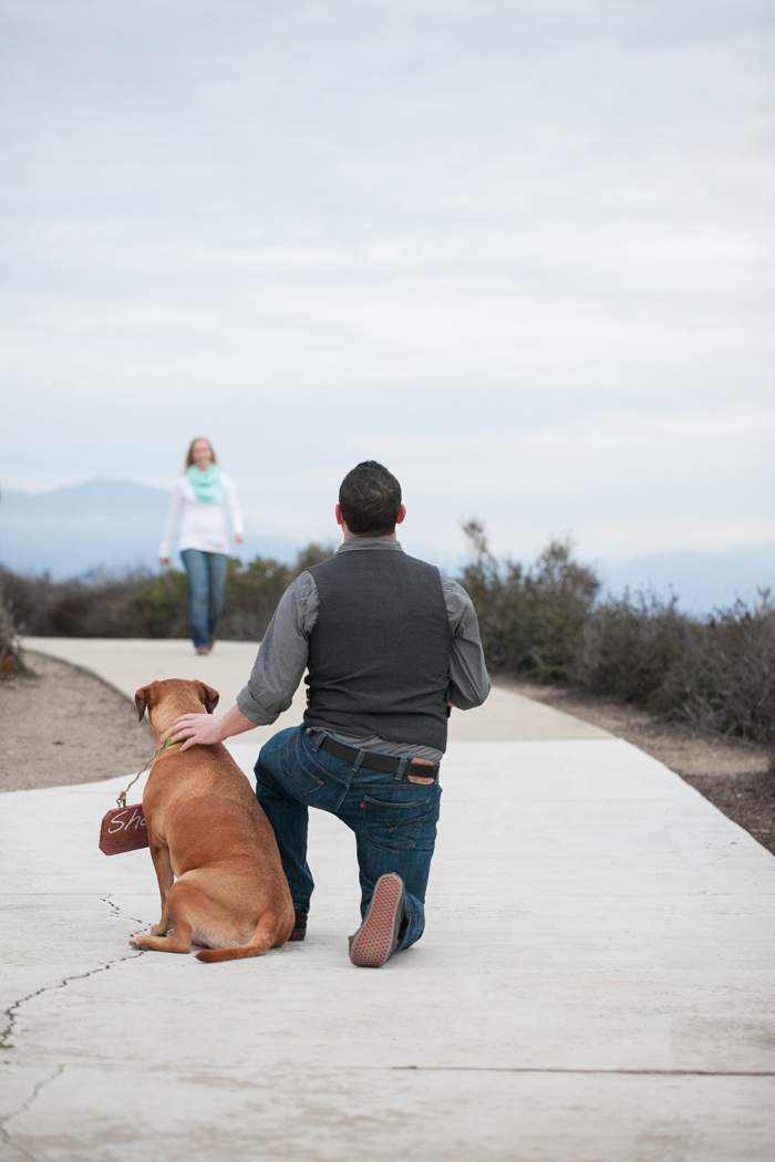
[(302, 573), (284, 593), (264, 634), (247, 686), (237, 705), (223, 717), (182, 715), (170, 738), (189, 746), (223, 743), (254, 726), (270, 726), (293, 702), (309, 654), (309, 634), (317, 619), (320, 598), (310, 573)]

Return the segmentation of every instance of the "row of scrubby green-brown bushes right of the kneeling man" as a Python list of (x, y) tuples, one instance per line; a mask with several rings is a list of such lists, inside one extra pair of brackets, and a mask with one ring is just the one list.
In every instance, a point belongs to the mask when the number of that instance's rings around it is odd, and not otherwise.
[(738, 602), (712, 617), (681, 614), (677, 598), (608, 596), (567, 543), (552, 541), (529, 566), (500, 565), (485, 530), (469, 522), (473, 546), (461, 582), (479, 615), (491, 669), (566, 682), (633, 703), (666, 719), (691, 722), (765, 745), (775, 741), (775, 605)]

